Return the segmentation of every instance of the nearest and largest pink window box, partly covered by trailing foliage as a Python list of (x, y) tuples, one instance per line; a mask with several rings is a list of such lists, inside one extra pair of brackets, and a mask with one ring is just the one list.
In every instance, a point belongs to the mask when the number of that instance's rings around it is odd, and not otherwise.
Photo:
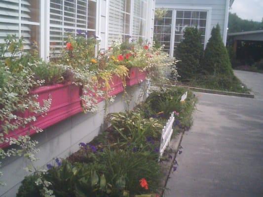
[[(43, 99), (48, 99), (51, 96), (52, 102), (50, 109), (46, 115), (36, 115), (37, 121), (30, 123), (32, 126), (40, 129), (46, 129), (47, 127), (54, 125), (70, 116), (75, 115), (82, 111), (81, 100), (79, 98), (81, 91), (80, 87), (74, 84), (56, 84), (52, 86), (40, 87), (31, 93), (32, 95), (38, 95), (38, 102), (42, 106)], [(25, 112), (22, 116), (28, 117), (34, 115), (33, 113)], [(31, 129), (29, 125), (25, 128), (21, 127), (15, 131), (10, 131), (5, 137), (17, 138), (18, 135), (35, 134), (36, 131)], [(0, 144), (0, 147), (8, 146), (8, 143)]]

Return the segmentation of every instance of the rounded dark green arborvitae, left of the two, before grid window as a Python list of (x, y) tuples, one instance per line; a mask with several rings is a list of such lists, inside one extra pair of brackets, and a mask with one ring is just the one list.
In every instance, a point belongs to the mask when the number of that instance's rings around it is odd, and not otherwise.
[(200, 58), (203, 55), (201, 33), (197, 28), (186, 28), (184, 40), (176, 47), (175, 57), (178, 74), (181, 80), (193, 78), (199, 70)]

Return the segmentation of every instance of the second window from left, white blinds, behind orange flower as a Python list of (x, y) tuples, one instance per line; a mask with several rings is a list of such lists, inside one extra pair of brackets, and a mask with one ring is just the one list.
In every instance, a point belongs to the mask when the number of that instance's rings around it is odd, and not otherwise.
[(68, 33), (95, 35), (96, 0), (50, 0), (50, 56), (58, 57)]

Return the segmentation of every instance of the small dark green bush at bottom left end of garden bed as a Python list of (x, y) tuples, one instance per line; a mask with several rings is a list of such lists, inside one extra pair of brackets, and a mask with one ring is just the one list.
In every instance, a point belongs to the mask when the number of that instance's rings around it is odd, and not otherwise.
[(38, 175), (26, 176), (21, 182), (21, 186), (16, 197), (40, 197), (40, 187), (36, 185)]

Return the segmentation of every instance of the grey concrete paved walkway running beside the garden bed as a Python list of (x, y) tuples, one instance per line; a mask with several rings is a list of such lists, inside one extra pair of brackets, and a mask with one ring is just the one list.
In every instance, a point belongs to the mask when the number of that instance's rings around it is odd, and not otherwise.
[(235, 73), (256, 99), (196, 94), (166, 197), (263, 197), (263, 74)]

